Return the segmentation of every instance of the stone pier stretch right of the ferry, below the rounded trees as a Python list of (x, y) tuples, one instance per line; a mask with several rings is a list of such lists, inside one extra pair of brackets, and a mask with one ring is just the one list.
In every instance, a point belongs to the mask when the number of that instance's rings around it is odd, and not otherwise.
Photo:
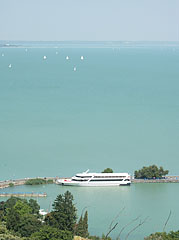
[(167, 176), (163, 179), (131, 179), (132, 183), (179, 183), (179, 176)]

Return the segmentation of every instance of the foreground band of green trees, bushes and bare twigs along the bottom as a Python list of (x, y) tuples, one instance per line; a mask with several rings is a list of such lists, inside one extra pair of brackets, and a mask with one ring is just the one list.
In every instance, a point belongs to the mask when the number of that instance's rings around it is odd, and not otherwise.
[[(73, 195), (69, 191), (58, 195), (52, 206), (53, 210), (42, 217), (39, 214), (40, 206), (33, 199), (27, 201), (11, 197), (5, 202), (0, 202), (0, 240), (81, 240), (75, 235), (90, 240), (111, 240), (109, 235), (118, 224), (113, 220), (106, 235), (102, 237), (90, 236), (88, 232), (88, 212), (82, 213), (77, 220), (77, 209), (73, 203)], [(136, 220), (140, 219), (136, 218), (126, 226)], [(140, 223), (129, 231), (125, 240), (143, 223), (145, 223), (145, 220), (143, 222), (140, 220)], [(120, 234), (126, 226), (122, 227)], [(121, 240), (120, 234), (116, 240)], [(158, 232), (144, 238), (144, 240), (178, 239), (179, 231)]]

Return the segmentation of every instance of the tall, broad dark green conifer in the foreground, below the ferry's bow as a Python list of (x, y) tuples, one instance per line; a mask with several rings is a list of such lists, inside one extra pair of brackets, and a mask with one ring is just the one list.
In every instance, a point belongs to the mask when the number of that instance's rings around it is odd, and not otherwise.
[(57, 196), (53, 203), (53, 211), (45, 218), (45, 222), (60, 230), (74, 233), (77, 220), (77, 209), (73, 204), (73, 195), (67, 191)]

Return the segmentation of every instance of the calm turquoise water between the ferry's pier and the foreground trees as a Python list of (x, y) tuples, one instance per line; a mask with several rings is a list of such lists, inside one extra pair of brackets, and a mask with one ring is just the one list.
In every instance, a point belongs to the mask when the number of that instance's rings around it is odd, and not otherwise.
[[(84, 209), (88, 210), (89, 232), (93, 235), (101, 236), (102, 233), (107, 233), (111, 222), (115, 220), (114, 223), (119, 222), (119, 224), (110, 236), (116, 240), (122, 227), (139, 217), (125, 229), (121, 234), (121, 239), (125, 239), (131, 229), (147, 218), (146, 222), (129, 237), (130, 240), (142, 240), (144, 236), (152, 232), (163, 231), (170, 210), (172, 214), (165, 230), (179, 229), (179, 185), (177, 183), (132, 184), (130, 187), (108, 188), (62, 187), (53, 184), (43, 187), (19, 186), (0, 191), (46, 192), (47, 198), (38, 198), (37, 201), (41, 208), (51, 211), (51, 205), (56, 196), (67, 190), (74, 195), (78, 216)], [(3, 199), (5, 198), (1, 198), (1, 201)]]

